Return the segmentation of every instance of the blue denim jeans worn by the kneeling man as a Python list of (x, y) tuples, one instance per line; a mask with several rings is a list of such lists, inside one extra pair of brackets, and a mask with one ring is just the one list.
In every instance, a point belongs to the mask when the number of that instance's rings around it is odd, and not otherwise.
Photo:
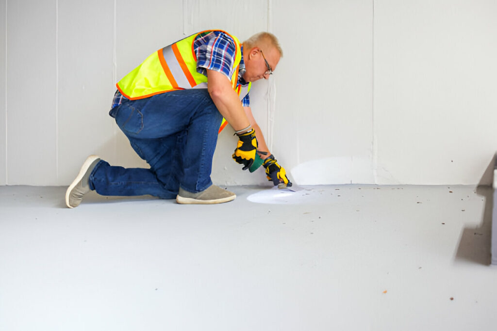
[(89, 177), (92, 190), (103, 196), (174, 199), (180, 186), (196, 193), (212, 185), (212, 157), (223, 117), (207, 89), (126, 100), (109, 114), (150, 169), (101, 160)]

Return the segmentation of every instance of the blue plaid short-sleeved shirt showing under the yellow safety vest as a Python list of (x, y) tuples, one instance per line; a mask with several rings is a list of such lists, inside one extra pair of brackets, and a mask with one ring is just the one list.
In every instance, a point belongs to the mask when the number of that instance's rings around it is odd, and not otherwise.
[[(226, 33), (221, 31), (205, 32), (198, 35), (193, 41), (193, 51), (197, 56), (197, 72), (207, 76), (207, 69), (219, 71), (231, 79), (235, 68), (235, 41)], [(243, 57), (240, 61), (238, 71), (238, 83), (246, 86), (248, 83), (242, 78), (245, 73), (245, 62)], [(123, 100), (127, 100), (119, 90), (114, 94), (112, 108), (120, 105)], [(247, 95), (242, 100), (244, 107), (250, 106), (250, 97)]]

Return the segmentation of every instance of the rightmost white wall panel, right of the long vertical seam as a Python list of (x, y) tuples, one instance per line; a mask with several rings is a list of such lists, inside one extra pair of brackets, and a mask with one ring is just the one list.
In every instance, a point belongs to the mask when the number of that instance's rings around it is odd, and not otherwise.
[(496, 17), (495, 0), (375, 1), (378, 183), (479, 182), (497, 150)]

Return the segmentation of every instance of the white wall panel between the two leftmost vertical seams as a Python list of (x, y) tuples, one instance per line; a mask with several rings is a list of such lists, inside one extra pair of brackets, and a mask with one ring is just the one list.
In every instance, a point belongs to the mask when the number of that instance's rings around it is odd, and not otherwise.
[(6, 2), (6, 183), (55, 184), (56, 0)]

